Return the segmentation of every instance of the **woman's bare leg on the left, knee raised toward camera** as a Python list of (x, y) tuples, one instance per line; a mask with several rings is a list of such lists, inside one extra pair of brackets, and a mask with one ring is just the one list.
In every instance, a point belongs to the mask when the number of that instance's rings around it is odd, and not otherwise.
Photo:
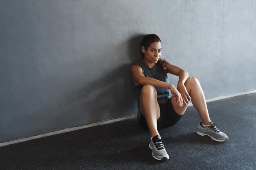
[(157, 131), (157, 119), (160, 117), (160, 108), (157, 103), (157, 91), (155, 87), (146, 84), (141, 89), (140, 94), (140, 110), (146, 118), (150, 137), (159, 135)]

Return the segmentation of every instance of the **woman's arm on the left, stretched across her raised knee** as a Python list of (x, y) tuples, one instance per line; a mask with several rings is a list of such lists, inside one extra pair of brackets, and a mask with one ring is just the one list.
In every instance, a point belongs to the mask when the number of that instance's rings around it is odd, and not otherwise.
[(180, 106), (183, 106), (182, 96), (180, 92), (172, 84), (162, 82), (154, 78), (145, 77), (142, 73), (142, 68), (139, 65), (133, 65), (131, 68), (131, 72), (132, 72), (132, 82), (135, 86), (139, 84), (141, 85), (151, 84), (158, 88), (169, 88), (171, 90), (171, 94), (173, 95), (173, 97), (176, 97), (177, 102), (179, 102)]

